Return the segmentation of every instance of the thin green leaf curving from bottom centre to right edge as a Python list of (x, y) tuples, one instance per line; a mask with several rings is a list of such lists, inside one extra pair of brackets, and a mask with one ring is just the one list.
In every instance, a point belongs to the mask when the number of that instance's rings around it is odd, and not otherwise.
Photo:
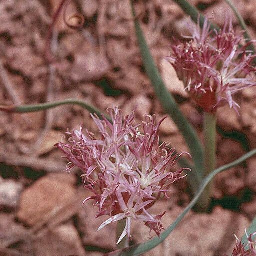
[[(246, 153), (242, 157), (238, 158), (237, 160), (235, 160), (227, 165), (223, 165), (223, 166), (215, 169), (208, 176), (206, 176), (203, 179), (201, 185), (199, 186), (198, 191), (197, 191), (195, 197), (193, 198), (193, 200), (188, 204), (188, 206), (184, 209), (184, 211), (176, 218), (176, 220), (162, 234), (160, 234), (160, 237), (154, 237), (153, 239), (150, 239), (150, 240), (146, 241), (145, 243), (130, 246), (130, 247), (124, 248), (122, 250), (116, 250), (111, 253), (104, 254), (103, 256), (136, 256), (136, 255), (145, 253), (145, 252), (153, 249), (160, 243), (162, 243), (168, 237), (168, 235), (174, 230), (174, 228), (178, 225), (178, 223), (183, 219), (183, 217), (187, 214), (187, 212), (195, 205), (195, 203), (197, 202), (198, 198), (204, 191), (207, 184), (213, 179), (213, 177), (216, 174), (223, 172), (235, 165), (242, 163), (243, 161), (250, 158), (254, 154), (256, 154), (256, 149), (251, 150), (250, 152)], [(182, 245), (180, 245), (180, 246), (182, 247)]]

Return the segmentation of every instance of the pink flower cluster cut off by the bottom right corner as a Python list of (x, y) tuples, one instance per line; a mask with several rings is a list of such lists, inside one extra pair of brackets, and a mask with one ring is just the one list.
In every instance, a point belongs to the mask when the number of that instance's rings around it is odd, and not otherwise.
[[(253, 236), (256, 235), (256, 232), (250, 234), (246, 233), (247, 236), (247, 245), (249, 246), (249, 249), (245, 249), (245, 244), (241, 243), (241, 240), (239, 240), (237, 237), (236, 246), (234, 247), (231, 256), (256, 256), (256, 241), (253, 240)], [(227, 256), (227, 255), (225, 255)]]

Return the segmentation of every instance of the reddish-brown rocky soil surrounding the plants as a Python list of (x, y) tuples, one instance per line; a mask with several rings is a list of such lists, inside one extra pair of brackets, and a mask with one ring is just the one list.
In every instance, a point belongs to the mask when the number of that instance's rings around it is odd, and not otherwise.
[[(228, 6), (223, 0), (188, 0), (213, 22), (222, 25)], [(255, 0), (233, 0), (256, 38)], [(130, 19), (128, 0), (73, 0), (49, 31), (61, 0), (1, 0), (0, 103), (35, 104), (76, 98), (104, 111), (119, 106), (124, 114), (135, 107), (136, 122), (144, 114), (165, 114), (147, 78)], [(186, 34), (186, 15), (173, 1), (135, 3), (152, 55), (184, 115), (202, 137), (202, 111), (183, 90), (164, 60), (173, 37)], [(231, 13), (231, 12), (230, 12)], [(235, 16), (233, 23), (238, 22)], [(71, 18), (70, 18), (71, 17)], [(73, 24), (73, 23), (72, 23)], [(228, 106), (217, 112), (217, 166), (256, 147), (256, 88), (237, 95), (240, 115)], [(81, 124), (96, 127), (88, 111), (65, 105), (44, 112), (0, 113), (0, 256), (96, 256), (115, 249), (115, 224), (97, 231), (105, 217), (94, 219), (81, 171), (63, 172), (66, 162), (54, 144), (64, 132)], [(188, 150), (176, 125), (167, 118), (161, 139), (178, 151)], [(256, 215), (256, 157), (225, 171), (214, 180), (209, 213), (191, 211), (164, 243), (145, 256), (222, 256), (230, 254)], [(167, 227), (189, 203), (185, 180), (172, 196), (154, 205), (167, 211)], [(162, 212), (163, 212), (162, 211)], [(131, 243), (148, 238), (143, 224), (134, 224)], [(111, 235), (110, 235), (111, 234)]]

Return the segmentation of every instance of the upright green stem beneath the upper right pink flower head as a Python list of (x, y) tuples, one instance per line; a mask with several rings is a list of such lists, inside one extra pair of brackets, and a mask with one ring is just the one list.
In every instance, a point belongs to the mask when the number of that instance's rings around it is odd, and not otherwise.
[[(210, 174), (215, 168), (216, 151), (216, 115), (211, 112), (204, 112), (204, 177)], [(197, 203), (197, 210), (206, 211), (208, 209), (212, 191), (210, 182), (201, 195)]]

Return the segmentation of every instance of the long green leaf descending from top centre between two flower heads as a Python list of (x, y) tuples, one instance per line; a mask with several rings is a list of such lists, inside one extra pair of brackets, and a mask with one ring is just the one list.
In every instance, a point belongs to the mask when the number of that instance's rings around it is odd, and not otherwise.
[[(158, 72), (158, 69), (156, 67), (156, 64), (152, 58), (152, 55), (150, 53), (150, 50), (148, 48), (146, 39), (143, 35), (143, 32), (141, 30), (139, 21), (135, 19), (135, 11), (133, 7), (133, 3), (131, 0), (131, 8), (132, 8), (132, 14), (134, 17), (134, 25), (136, 30), (136, 36), (138, 39), (142, 60), (144, 63), (144, 67), (146, 70), (146, 73), (148, 77), (151, 80), (152, 86), (155, 90), (155, 94), (160, 101), (162, 107), (164, 108), (165, 112), (170, 115), (170, 117), (173, 119), (175, 124), (177, 125), (178, 129), (180, 130), (181, 134), (183, 135), (186, 144), (189, 147), (192, 159), (195, 164), (195, 170), (193, 173), (191, 172), (190, 175), (194, 175), (194, 181), (201, 181), (203, 176), (203, 149), (202, 145), (199, 141), (199, 138), (197, 136), (197, 133), (191, 126), (191, 124), (188, 122), (188, 120), (183, 116), (181, 113), (178, 105), (176, 104), (173, 96), (169, 93), (169, 91), (166, 89), (165, 84)], [(190, 181), (190, 180), (188, 180)], [(195, 184), (194, 184), (195, 185)], [(196, 186), (199, 185), (197, 182)]]

